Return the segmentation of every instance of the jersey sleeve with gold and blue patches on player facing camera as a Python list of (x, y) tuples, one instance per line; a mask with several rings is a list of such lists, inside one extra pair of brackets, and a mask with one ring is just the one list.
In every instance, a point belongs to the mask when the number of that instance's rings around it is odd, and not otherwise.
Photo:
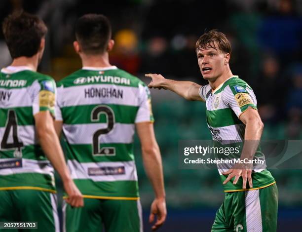
[(222, 98), (238, 118), (248, 107), (257, 110), (256, 96), (253, 89), (245, 82), (230, 83), (223, 92)]

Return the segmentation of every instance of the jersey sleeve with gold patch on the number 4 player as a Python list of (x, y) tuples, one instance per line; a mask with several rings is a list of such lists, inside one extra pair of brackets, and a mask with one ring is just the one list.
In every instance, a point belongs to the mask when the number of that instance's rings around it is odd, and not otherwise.
[(38, 80), (35, 85), (35, 97), (33, 101), (33, 115), (42, 111), (49, 111), (55, 118), (56, 84), (52, 78)]

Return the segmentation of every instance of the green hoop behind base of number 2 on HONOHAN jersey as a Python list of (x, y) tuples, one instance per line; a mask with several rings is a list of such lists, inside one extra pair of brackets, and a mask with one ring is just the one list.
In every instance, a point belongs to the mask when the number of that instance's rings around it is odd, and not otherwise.
[(114, 147), (114, 156), (94, 156), (92, 155), (92, 145), (84, 144), (69, 144), (63, 142), (63, 146), (66, 151), (68, 159), (76, 159), (78, 162), (114, 162), (114, 161), (132, 161), (134, 160), (133, 155), (133, 144), (101, 144), (100, 148)]

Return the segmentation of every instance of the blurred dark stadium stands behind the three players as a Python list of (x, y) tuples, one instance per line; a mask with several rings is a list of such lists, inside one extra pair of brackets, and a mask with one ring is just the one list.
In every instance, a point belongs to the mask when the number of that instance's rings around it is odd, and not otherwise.
[[(218, 29), (232, 45), (230, 67), (258, 99), (264, 139), (302, 139), (301, 0), (1, 0), (0, 20), (14, 9), (38, 14), (48, 26), (39, 72), (56, 80), (81, 68), (73, 50), (76, 19), (102, 13), (113, 27), (111, 63), (143, 79), (146, 73), (203, 80), (195, 42)], [(0, 33), (0, 65), (10, 55)], [(217, 170), (180, 170), (178, 141), (211, 139), (205, 105), (151, 90), (155, 132), (164, 166), (168, 218), (160, 231), (210, 231), (224, 193)], [(153, 192), (135, 140), (145, 231)], [(279, 188), (278, 232), (301, 231), (302, 170), (271, 170)], [(60, 185), (60, 180), (57, 181)]]

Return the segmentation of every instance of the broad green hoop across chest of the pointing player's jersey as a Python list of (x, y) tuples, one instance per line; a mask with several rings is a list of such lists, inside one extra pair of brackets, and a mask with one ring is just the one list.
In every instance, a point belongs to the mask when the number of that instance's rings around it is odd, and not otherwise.
[[(217, 118), (219, 118), (219, 120), (217, 120)], [(230, 108), (207, 111), (207, 121), (212, 127), (224, 127), (242, 124), (242, 122)]]

